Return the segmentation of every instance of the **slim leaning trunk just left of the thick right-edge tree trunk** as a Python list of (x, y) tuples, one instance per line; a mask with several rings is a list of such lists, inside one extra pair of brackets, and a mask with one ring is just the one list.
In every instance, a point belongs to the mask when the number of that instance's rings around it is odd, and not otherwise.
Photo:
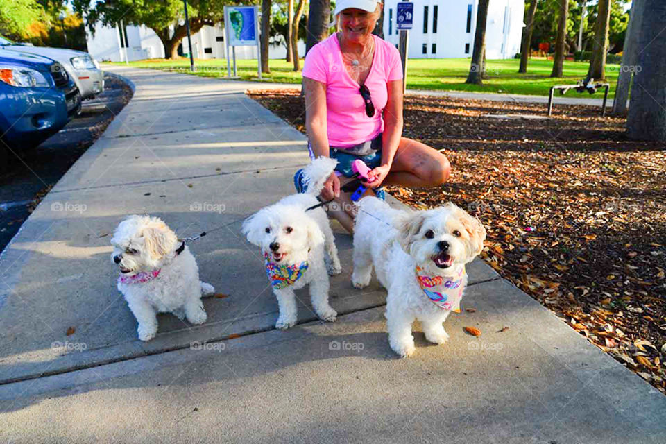
[(631, 2), (629, 26), (627, 26), (626, 35), (624, 36), (622, 65), (620, 65), (620, 75), (617, 76), (615, 101), (613, 101), (613, 112), (615, 114), (626, 115), (631, 77), (636, 69), (636, 59), (638, 58), (638, 37), (640, 35), (644, 5), (645, 0), (633, 0)]

